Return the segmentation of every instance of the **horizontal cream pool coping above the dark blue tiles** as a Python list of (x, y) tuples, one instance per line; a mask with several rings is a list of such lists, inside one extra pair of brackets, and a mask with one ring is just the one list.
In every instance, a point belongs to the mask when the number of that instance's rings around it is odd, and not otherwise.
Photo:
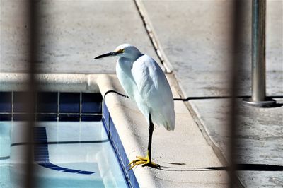
[[(25, 91), (27, 73), (0, 73), (1, 91)], [(100, 93), (100, 74), (35, 74), (40, 91)]]

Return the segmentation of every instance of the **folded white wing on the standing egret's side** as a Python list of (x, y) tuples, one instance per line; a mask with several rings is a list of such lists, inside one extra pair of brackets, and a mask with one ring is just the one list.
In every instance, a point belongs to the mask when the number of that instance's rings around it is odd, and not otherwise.
[(151, 113), (153, 122), (173, 130), (175, 112), (171, 88), (162, 69), (154, 59), (143, 55), (134, 61), (132, 76), (139, 95), (135, 100), (139, 110), (146, 116)]

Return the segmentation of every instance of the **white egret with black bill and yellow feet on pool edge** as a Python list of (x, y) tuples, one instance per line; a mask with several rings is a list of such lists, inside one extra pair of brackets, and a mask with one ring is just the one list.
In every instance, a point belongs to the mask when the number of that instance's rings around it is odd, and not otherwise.
[(153, 168), (160, 167), (151, 161), (151, 142), (154, 123), (163, 125), (168, 131), (175, 127), (174, 101), (171, 88), (165, 74), (154, 59), (141, 54), (137, 47), (123, 44), (114, 52), (100, 55), (95, 59), (117, 56), (117, 77), (130, 99), (137, 103), (137, 107), (144, 114), (149, 124), (149, 145), (146, 157), (137, 156), (129, 163), (130, 169), (141, 165)]

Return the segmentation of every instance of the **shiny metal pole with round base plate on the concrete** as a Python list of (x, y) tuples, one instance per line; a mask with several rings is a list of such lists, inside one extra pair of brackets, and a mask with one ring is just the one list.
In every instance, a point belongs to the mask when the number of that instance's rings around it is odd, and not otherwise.
[(243, 101), (256, 107), (270, 107), (275, 100), (265, 94), (265, 16), (266, 0), (252, 4), (252, 97)]

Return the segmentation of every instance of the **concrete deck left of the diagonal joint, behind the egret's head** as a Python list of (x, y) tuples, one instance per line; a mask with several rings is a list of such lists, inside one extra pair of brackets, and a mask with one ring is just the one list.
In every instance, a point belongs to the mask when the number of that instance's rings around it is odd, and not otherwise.
[[(1, 1), (1, 72), (26, 72), (27, 1)], [(130, 43), (156, 57), (134, 2), (38, 1), (40, 6), (37, 71), (45, 73), (114, 73), (115, 58), (98, 54)]]

